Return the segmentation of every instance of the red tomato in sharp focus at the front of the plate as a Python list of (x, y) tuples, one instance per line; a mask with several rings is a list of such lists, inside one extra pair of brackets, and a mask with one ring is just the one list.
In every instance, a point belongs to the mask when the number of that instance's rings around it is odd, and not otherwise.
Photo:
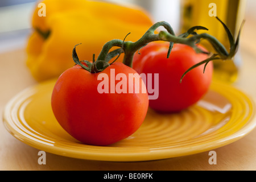
[[(114, 76), (110, 74), (113, 69)], [(128, 77), (129, 73), (137, 72), (122, 63), (114, 63), (100, 73), (90, 73), (75, 65), (58, 78), (51, 104), (57, 121), (74, 138), (85, 144), (106, 146), (129, 137), (141, 126), (148, 109), (148, 94), (141, 92), (146, 90), (141, 77), (139, 93), (99, 93), (101, 73), (112, 79), (118, 73)], [(109, 89), (110, 82), (105, 85)], [(114, 86), (118, 83), (114, 80)], [(131, 86), (134, 90), (136, 85), (127, 81), (127, 90)]]

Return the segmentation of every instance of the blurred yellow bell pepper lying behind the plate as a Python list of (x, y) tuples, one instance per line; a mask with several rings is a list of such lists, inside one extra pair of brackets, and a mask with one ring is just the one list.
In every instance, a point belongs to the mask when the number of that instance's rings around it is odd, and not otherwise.
[[(135, 42), (152, 26), (150, 16), (140, 7), (87, 0), (45, 0), (32, 16), (33, 32), (27, 44), (27, 67), (38, 81), (58, 77), (75, 63), (76, 44), (80, 60), (92, 60), (112, 39)], [(122, 58), (122, 57), (121, 57)], [(119, 58), (119, 60), (121, 60)]]

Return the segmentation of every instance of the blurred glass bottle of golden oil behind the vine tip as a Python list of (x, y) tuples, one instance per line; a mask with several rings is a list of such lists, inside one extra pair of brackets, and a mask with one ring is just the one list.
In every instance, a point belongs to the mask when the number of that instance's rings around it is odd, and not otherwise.
[[(229, 40), (224, 27), (214, 17), (218, 16), (236, 38), (245, 15), (246, 0), (181, 0), (181, 33), (193, 26), (204, 26), (208, 34), (215, 36), (229, 51)], [(203, 32), (203, 31), (202, 31)], [(200, 33), (200, 31), (199, 31)], [(213, 51), (207, 41), (201, 44)], [(226, 82), (237, 80), (241, 67), (239, 52), (232, 60), (217, 60), (214, 63), (214, 78)]]

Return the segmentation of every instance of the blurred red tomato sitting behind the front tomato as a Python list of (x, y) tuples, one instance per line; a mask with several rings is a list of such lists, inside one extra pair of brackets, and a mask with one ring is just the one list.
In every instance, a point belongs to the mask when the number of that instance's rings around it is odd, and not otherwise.
[(201, 65), (188, 72), (180, 83), (187, 69), (208, 56), (196, 53), (189, 46), (175, 44), (167, 59), (168, 47), (168, 43), (150, 43), (141, 49), (140, 55), (135, 54), (133, 60), (133, 68), (139, 74), (159, 73), (159, 97), (150, 100), (149, 106), (163, 112), (180, 111), (199, 101), (207, 93), (213, 74), (213, 64), (210, 62), (205, 73), (204, 65)]

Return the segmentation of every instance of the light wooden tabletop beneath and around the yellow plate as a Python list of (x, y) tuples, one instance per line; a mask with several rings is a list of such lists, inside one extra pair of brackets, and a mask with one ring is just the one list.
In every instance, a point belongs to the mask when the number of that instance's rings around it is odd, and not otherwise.
[[(256, 101), (256, 23), (247, 20), (241, 38), (243, 59), (239, 78), (233, 85)], [(0, 110), (18, 92), (36, 84), (26, 68), (24, 49), (0, 54)], [(2, 111), (0, 112), (2, 121)], [(38, 164), (39, 150), (14, 138), (0, 122), (0, 170), (256, 170), (256, 129), (246, 137), (217, 148), (217, 164), (210, 165), (209, 151), (150, 162), (100, 162), (46, 154), (46, 165)]]

